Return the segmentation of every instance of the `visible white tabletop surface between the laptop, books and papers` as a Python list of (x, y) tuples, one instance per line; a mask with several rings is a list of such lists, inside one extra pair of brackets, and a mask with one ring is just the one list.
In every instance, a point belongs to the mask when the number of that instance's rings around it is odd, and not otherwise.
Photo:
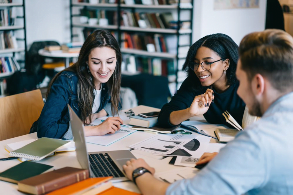
[[(144, 113), (144, 112), (150, 112), (150, 111), (159, 111), (160, 109), (148, 107), (148, 106), (137, 106), (136, 108), (132, 109), (135, 114), (138, 113)], [(121, 116), (122, 119), (124, 119), (125, 123), (128, 123), (128, 118), (125, 118), (126, 116)], [(202, 119), (202, 117), (195, 118), (195, 119)], [(109, 151), (109, 150), (131, 150), (128, 146), (131, 144), (134, 144), (136, 142), (142, 141), (146, 138), (149, 138), (151, 136), (154, 136), (154, 134), (146, 133), (144, 131), (136, 131), (129, 136), (126, 136), (125, 138), (118, 140), (114, 142), (113, 144), (109, 146), (101, 146), (96, 144), (89, 144), (87, 143), (87, 149), (88, 152), (93, 151)], [(27, 134), (11, 139), (6, 139), (3, 141), (0, 141), (0, 158), (9, 157), (9, 153), (4, 149), (4, 147), (9, 143), (14, 143), (17, 141), (23, 141), (28, 139), (37, 139), (37, 133)], [(208, 152), (214, 152), (219, 151), (220, 148), (222, 148), (224, 144), (209, 144)], [(138, 150), (131, 150), (131, 153), (134, 154), (136, 158), (142, 158), (144, 159), (150, 166), (154, 167), (156, 169), (156, 174), (169, 171), (172, 169), (176, 169), (178, 171), (179, 169), (182, 170), (190, 170), (190, 172), (194, 172), (197, 169), (191, 168), (191, 167), (180, 167), (180, 166), (174, 166), (168, 164), (171, 160), (171, 157), (167, 157), (164, 159), (161, 159), (162, 156), (156, 156), (152, 155), (150, 153), (144, 152), (144, 151), (138, 151)], [(64, 152), (59, 153), (56, 156), (49, 157), (42, 159), (39, 161), (43, 164), (48, 164), (51, 166), (54, 166), (53, 168), (49, 169), (49, 171), (52, 171), (53, 169), (60, 169), (65, 166), (71, 166), (76, 168), (81, 168), (80, 164), (78, 163), (78, 160), (76, 158), (75, 152)], [(0, 161), (0, 172), (5, 171), (6, 169), (9, 169), (12, 166), (15, 166), (19, 164), (20, 161), (17, 159), (14, 160), (8, 160), (8, 161)], [(156, 175), (155, 174), (155, 175)], [(138, 188), (134, 185), (131, 181), (125, 181), (125, 182), (119, 182), (119, 183), (113, 183), (114, 186), (123, 188), (129, 191), (134, 191), (139, 193)], [(1, 194), (7, 194), (7, 195), (19, 195), (23, 194), (22, 192), (17, 191), (17, 185), (8, 183), (5, 181), (0, 181), (0, 189)]]

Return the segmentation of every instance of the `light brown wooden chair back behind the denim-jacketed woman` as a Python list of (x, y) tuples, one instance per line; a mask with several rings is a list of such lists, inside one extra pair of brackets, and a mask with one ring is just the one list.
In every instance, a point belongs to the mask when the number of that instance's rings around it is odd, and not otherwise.
[(43, 106), (39, 89), (0, 98), (0, 141), (28, 134)]

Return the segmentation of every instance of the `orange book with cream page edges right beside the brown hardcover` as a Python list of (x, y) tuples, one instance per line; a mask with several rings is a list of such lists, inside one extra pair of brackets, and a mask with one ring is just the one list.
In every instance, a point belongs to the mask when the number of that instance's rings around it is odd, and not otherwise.
[(112, 182), (109, 181), (112, 177), (97, 177), (88, 178), (75, 184), (52, 191), (46, 195), (96, 195), (109, 188)]

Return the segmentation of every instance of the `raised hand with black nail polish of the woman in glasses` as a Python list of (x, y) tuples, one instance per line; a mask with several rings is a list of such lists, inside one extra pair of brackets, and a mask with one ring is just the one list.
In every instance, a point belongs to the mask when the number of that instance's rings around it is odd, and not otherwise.
[(194, 116), (205, 114), (210, 104), (214, 102), (214, 98), (214, 91), (212, 89), (207, 89), (204, 94), (195, 96), (189, 107), (189, 113)]

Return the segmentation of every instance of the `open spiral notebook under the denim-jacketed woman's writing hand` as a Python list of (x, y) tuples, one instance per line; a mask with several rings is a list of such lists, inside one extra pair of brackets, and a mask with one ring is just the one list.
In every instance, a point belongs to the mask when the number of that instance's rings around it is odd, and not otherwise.
[(106, 134), (103, 136), (89, 136), (85, 137), (85, 141), (91, 144), (98, 144), (102, 146), (108, 146), (109, 144), (114, 143), (115, 141), (118, 141), (119, 139), (124, 138), (125, 136), (128, 136), (129, 134), (135, 132), (136, 130), (132, 130), (129, 128), (119, 129), (118, 131), (115, 131), (114, 134)]

